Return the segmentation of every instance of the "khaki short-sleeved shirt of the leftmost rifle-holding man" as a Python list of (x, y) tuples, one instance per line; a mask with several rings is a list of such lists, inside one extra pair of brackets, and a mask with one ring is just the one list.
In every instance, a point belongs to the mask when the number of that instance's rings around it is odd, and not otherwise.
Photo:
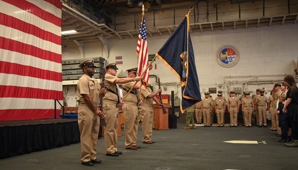
[(90, 78), (87, 74), (84, 74), (77, 82), (77, 101), (80, 103), (86, 103), (82, 94), (89, 94), (91, 96), (93, 104), (97, 106), (100, 95), (99, 81), (93, 77)]

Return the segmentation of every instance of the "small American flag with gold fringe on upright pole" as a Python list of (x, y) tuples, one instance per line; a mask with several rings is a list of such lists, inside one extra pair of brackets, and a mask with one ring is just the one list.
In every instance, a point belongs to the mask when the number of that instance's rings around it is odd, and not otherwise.
[[(147, 34), (144, 13), (142, 17), (142, 23), (139, 31), (138, 45), (136, 47), (136, 55), (139, 56), (138, 63), (138, 76), (141, 76), (145, 68), (149, 65), (148, 63), (148, 48), (147, 48)], [(143, 75), (143, 82), (145, 87), (149, 87), (149, 71), (148, 69)]]

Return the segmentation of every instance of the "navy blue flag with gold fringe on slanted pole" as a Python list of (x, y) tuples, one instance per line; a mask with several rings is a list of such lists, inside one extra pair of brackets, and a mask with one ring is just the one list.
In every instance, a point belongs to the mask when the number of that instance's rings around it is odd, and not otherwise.
[(156, 54), (180, 79), (182, 86), (180, 109), (182, 113), (190, 106), (201, 101), (199, 80), (195, 68), (195, 57), (188, 23), (188, 15), (186, 15), (184, 20)]

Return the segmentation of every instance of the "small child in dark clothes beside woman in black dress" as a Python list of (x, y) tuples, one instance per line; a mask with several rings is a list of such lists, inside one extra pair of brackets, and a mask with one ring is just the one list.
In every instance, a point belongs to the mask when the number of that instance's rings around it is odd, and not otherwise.
[(283, 113), (283, 107), (285, 105), (285, 95), (282, 94), (279, 96), (280, 103), (278, 104), (277, 114), (278, 114), (278, 123), (281, 129), (281, 139), (278, 139), (277, 142), (288, 142), (288, 131), (285, 130), (285, 113)]

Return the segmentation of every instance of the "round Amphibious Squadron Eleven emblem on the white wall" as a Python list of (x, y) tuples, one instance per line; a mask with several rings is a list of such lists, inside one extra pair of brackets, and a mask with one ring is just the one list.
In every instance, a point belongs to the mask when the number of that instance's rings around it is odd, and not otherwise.
[(223, 67), (232, 67), (239, 61), (240, 54), (238, 49), (232, 45), (221, 46), (216, 54), (216, 60)]

